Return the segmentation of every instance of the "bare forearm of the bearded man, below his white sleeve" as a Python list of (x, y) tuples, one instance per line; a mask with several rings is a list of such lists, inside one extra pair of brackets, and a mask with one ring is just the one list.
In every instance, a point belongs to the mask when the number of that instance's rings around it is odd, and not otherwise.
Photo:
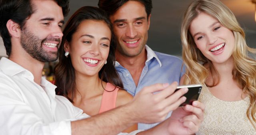
[(71, 122), (72, 135), (116, 135), (137, 123), (124, 105), (93, 117)]

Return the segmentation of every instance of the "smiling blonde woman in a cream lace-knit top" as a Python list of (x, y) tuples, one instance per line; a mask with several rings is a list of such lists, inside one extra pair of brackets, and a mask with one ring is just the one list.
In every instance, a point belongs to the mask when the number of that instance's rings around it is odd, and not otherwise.
[(182, 84), (204, 85), (199, 100), (206, 105), (197, 134), (256, 135), (255, 49), (234, 14), (219, 0), (195, 0), (181, 28)]

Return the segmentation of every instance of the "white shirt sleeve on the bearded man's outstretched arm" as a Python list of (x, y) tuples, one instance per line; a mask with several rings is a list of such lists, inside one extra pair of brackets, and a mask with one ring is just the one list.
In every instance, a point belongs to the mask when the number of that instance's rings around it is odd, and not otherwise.
[[(1, 78), (3, 79), (3, 78)], [(0, 134), (71, 135), (70, 121), (47, 123), (24, 103), (21, 93), (0, 79)], [(8, 83), (8, 82), (7, 82)], [(10, 82), (9, 82), (10, 83)], [(50, 115), (50, 114), (49, 114)]]

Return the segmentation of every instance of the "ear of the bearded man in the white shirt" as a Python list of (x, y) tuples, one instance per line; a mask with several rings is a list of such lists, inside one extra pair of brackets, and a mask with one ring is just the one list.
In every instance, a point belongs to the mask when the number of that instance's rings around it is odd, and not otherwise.
[(12, 20), (8, 20), (6, 23), (7, 30), (11, 37), (20, 38), (20, 25)]

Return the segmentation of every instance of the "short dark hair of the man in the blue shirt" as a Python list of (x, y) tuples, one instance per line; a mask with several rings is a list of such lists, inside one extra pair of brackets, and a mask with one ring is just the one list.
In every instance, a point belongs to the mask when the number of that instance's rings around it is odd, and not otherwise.
[[(112, 16), (123, 4), (129, 0), (99, 0), (98, 6), (104, 10), (108, 16)], [(145, 6), (147, 18), (151, 14), (152, 0), (134, 0), (142, 3)]]

